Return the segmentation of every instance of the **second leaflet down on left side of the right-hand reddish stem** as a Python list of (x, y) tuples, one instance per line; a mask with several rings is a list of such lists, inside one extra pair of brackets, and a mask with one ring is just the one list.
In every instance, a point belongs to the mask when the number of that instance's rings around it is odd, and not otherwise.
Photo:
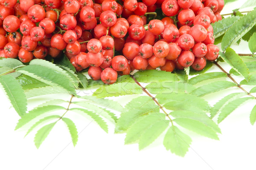
[(211, 94), (216, 91), (221, 91), (227, 88), (235, 87), (236, 83), (229, 82), (229, 81), (217, 81), (212, 82), (207, 85), (203, 85), (192, 91), (191, 94), (195, 94), (197, 96), (204, 96), (207, 94)]

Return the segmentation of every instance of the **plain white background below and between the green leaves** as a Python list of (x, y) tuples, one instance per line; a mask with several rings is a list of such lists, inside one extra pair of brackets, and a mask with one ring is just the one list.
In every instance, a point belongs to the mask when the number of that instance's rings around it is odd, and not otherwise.
[[(243, 2), (240, 0), (228, 4), (223, 14), (239, 8)], [(239, 53), (250, 52), (245, 42), (241, 42), (240, 46), (236, 45), (234, 48)], [(230, 68), (227, 65), (223, 66), (229, 71)], [(211, 68), (210, 71), (219, 70)], [(234, 88), (226, 94), (234, 91), (242, 92)], [(210, 104), (213, 105), (216, 102), (218, 95), (223, 94), (221, 92), (207, 96), (211, 101)], [(193, 142), (189, 152), (182, 158), (166, 151), (162, 144), (163, 136), (149, 147), (139, 151), (137, 144), (124, 145), (125, 134), (113, 134), (113, 125), (110, 124), (107, 134), (95, 122), (78, 115), (71, 115), (80, 133), (76, 147), (73, 147), (70, 134), (64, 123), (60, 121), (41, 147), (36, 149), (33, 143), (36, 131), (26, 138), (23, 136), (27, 128), (14, 131), (19, 116), (11, 108), (2, 90), (0, 90), (0, 96), (0, 170), (256, 169), (256, 126), (250, 125), (249, 121), (250, 110), (256, 104), (254, 101), (236, 109), (221, 122), (219, 126), (222, 134), (219, 135), (219, 141), (189, 132)], [(63, 96), (63, 98), (68, 100), (69, 96)], [(43, 99), (29, 100), (29, 102), (36, 105)], [(126, 96), (120, 97), (119, 101), (125, 104), (128, 99)]]

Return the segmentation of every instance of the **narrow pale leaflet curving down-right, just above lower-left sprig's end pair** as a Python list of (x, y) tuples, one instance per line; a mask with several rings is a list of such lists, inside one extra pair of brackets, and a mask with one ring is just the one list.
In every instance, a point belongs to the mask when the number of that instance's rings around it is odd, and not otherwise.
[(82, 108), (71, 108), (70, 111), (74, 111), (80, 114), (87, 114), (90, 116), (106, 133), (108, 133), (108, 125), (107, 123), (99, 116), (99, 114), (94, 113), (93, 111), (88, 111)]

